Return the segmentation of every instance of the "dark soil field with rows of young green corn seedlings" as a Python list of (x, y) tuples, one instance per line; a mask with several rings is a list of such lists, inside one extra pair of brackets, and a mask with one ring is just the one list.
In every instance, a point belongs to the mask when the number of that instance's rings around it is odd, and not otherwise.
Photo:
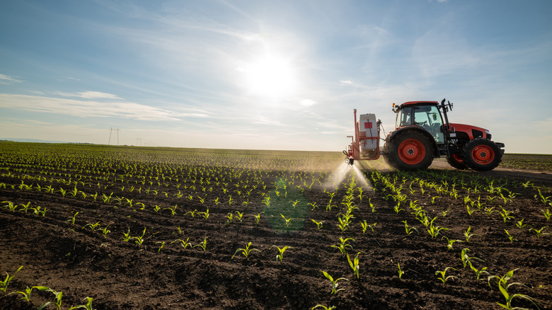
[[(345, 168), (333, 153), (14, 143), (0, 156), (0, 272), (23, 266), (6, 293), (50, 287), (62, 309), (85, 297), (98, 310), (502, 309), (488, 278), (510, 270), (506, 283), (523, 285), (507, 292), (552, 309), (551, 171), (435, 161), (401, 173)], [(321, 270), (345, 277), (343, 290), (331, 294)], [(0, 292), (0, 309), (54, 302), (38, 289), (21, 297)]]

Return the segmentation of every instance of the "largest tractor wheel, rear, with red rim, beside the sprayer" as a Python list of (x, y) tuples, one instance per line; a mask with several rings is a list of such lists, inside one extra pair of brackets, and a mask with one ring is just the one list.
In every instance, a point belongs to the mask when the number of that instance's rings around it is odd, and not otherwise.
[(384, 144), (384, 158), (398, 170), (426, 169), (433, 161), (433, 147), (421, 132), (399, 132)]

